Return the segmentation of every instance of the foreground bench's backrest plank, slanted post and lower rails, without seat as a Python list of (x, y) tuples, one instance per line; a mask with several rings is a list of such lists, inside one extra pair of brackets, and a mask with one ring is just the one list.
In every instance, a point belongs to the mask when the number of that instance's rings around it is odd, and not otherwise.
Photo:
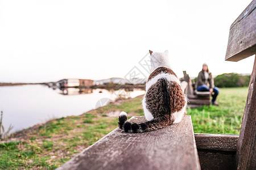
[[(256, 54), (256, 1), (230, 26), (226, 61)], [(255, 58), (255, 56), (254, 56)], [(202, 169), (256, 169), (256, 58), (240, 135), (195, 134)]]

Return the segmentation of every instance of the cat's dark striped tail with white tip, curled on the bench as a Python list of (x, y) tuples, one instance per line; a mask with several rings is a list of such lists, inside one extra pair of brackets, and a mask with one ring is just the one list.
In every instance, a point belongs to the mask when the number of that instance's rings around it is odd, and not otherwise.
[(121, 112), (119, 114), (119, 122), (118, 122), (119, 128), (124, 130), (126, 133), (143, 133), (147, 131), (152, 130), (158, 130), (162, 128), (166, 128), (168, 125), (170, 125), (170, 121), (168, 119), (157, 121), (157, 120), (151, 120), (143, 123), (131, 123), (127, 121), (127, 113)]

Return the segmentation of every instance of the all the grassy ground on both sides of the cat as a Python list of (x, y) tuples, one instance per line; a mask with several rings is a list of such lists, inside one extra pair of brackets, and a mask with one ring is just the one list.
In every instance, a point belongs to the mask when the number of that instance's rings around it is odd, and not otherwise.
[[(239, 134), (248, 88), (221, 88), (220, 107), (187, 109), (195, 133)], [(0, 169), (55, 169), (117, 128), (117, 117), (108, 113), (126, 111), (128, 117), (143, 115), (142, 96), (121, 105), (109, 104), (80, 116), (57, 118), (26, 129), (18, 142), (0, 143)]]

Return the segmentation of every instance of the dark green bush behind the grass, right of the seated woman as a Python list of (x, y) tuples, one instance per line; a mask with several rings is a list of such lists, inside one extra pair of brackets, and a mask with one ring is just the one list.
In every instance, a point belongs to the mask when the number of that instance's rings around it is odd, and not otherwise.
[(216, 87), (246, 87), (249, 86), (250, 76), (237, 73), (225, 73), (214, 78)]

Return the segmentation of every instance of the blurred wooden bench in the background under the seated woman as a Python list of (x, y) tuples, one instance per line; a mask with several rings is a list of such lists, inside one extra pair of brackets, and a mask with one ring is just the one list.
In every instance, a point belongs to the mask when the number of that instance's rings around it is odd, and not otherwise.
[(188, 97), (188, 107), (189, 108), (199, 108), (204, 105), (210, 105), (210, 92), (198, 92), (192, 86), (192, 81), (186, 71), (183, 71), (184, 81), (188, 83), (187, 88), (185, 88), (185, 94)]

